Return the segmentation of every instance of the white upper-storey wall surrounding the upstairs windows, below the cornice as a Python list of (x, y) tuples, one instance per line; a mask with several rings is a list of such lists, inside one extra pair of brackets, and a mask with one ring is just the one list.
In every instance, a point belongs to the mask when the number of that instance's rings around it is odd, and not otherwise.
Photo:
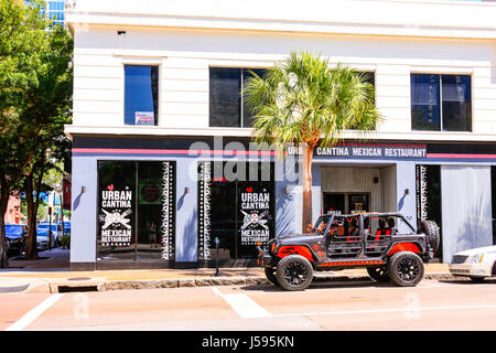
[[(490, 41), (89, 25), (75, 28), (75, 126), (123, 126), (123, 65), (160, 66), (162, 128), (208, 128), (208, 67), (268, 67), (306, 50), (376, 73), (379, 132), (411, 131), (410, 73), (468, 74), (473, 132), (496, 133), (496, 45)], [(132, 127), (140, 129), (141, 127)], [(438, 132), (418, 135), (436, 139)], [(444, 133), (446, 136), (446, 133)]]

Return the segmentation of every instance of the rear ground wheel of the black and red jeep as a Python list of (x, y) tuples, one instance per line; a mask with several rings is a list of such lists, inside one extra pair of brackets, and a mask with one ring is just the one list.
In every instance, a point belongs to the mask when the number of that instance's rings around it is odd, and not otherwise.
[(387, 264), (388, 275), (400, 287), (417, 286), (423, 277), (423, 261), (412, 252), (400, 252), (392, 255)]

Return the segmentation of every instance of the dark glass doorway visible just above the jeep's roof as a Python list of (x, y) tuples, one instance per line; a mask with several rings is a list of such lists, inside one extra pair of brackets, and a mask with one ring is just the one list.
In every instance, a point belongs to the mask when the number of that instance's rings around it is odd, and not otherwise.
[(324, 213), (351, 214), (370, 211), (369, 193), (324, 193)]

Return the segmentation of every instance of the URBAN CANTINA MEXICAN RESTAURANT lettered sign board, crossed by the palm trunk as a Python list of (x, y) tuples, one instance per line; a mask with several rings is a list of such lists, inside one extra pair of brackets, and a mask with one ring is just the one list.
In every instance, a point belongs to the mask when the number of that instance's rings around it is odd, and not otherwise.
[[(289, 146), (288, 154), (301, 156), (303, 154), (303, 148)], [(417, 143), (343, 142), (333, 147), (316, 147), (313, 156), (366, 159), (423, 159), (427, 157), (427, 147), (425, 145)]]

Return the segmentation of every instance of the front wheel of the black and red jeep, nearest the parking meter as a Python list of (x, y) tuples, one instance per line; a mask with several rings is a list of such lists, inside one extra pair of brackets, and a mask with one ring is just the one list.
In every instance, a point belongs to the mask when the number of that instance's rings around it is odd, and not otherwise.
[(288, 255), (279, 261), (276, 277), (285, 290), (304, 290), (312, 282), (313, 267), (303, 256)]

